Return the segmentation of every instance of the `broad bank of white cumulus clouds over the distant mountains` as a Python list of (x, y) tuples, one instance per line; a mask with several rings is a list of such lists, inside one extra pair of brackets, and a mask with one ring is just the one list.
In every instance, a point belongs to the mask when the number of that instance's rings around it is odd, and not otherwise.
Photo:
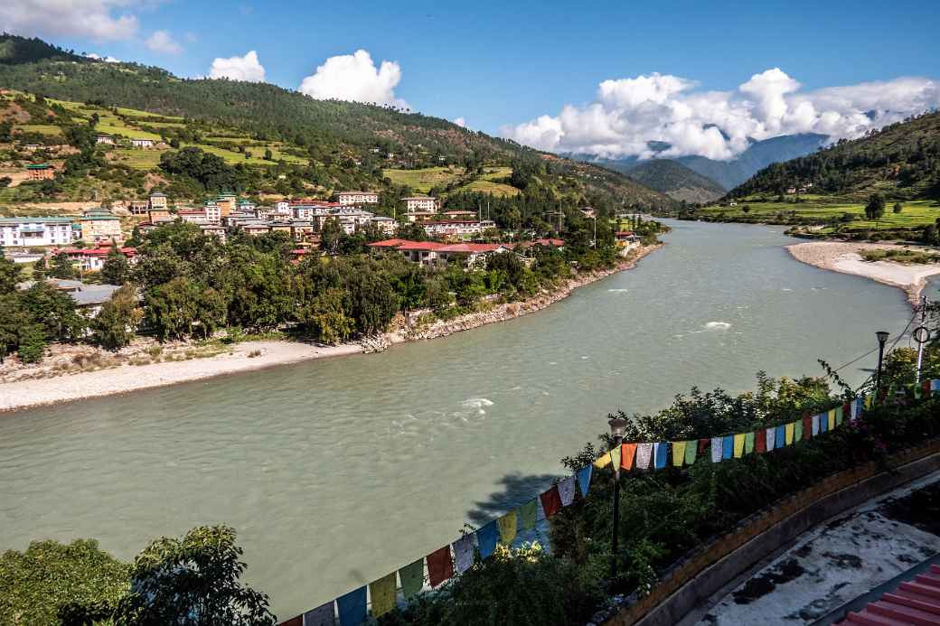
[[(695, 81), (654, 72), (603, 81), (592, 102), (500, 130), (556, 152), (727, 160), (750, 139), (791, 133), (852, 138), (938, 106), (940, 83), (920, 77), (803, 91), (797, 80), (773, 68), (735, 90), (706, 91)], [(669, 148), (659, 151), (650, 142)]]

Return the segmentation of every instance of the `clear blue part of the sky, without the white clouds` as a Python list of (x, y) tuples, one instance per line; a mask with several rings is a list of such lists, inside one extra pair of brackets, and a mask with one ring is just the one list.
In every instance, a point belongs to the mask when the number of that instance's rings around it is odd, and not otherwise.
[[(734, 91), (774, 68), (799, 82), (790, 94), (940, 78), (937, 2), (7, 2), (0, 28), (182, 76), (255, 50), (265, 80), (297, 88), (326, 59), (362, 49), (376, 66), (398, 64), (396, 99), (488, 133), (588, 106), (603, 81), (651, 72), (684, 79), (684, 94)], [(39, 4), (84, 5), (92, 19)], [(155, 31), (169, 40), (151, 46), (163, 52), (145, 45)]]

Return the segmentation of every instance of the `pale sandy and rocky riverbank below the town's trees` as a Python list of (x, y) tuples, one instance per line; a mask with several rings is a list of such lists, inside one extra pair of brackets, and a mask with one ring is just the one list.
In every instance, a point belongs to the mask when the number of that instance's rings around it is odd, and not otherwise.
[(199, 381), (215, 376), (290, 365), (311, 359), (344, 356), (362, 352), (382, 352), (391, 345), (418, 339), (433, 339), (478, 328), (497, 321), (509, 321), (546, 308), (567, 298), (578, 287), (596, 282), (611, 274), (635, 267), (636, 262), (662, 244), (645, 246), (616, 267), (579, 275), (565, 281), (556, 290), (545, 292), (516, 303), (493, 305), (487, 310), (470, 313), (453, 320), (429, 324), (405, 322), (383, 336), (368, 337), (359, 343), (324, 346), (297, 341), (247, 341), (231, 346), (212, 356), (184, 361), (122, 364), (115, 367), (62, 373), (46, 378), (0, 383), (0, 412), (19, 411), (42, 405), (78, 399), (100, 398), (169, 384)]

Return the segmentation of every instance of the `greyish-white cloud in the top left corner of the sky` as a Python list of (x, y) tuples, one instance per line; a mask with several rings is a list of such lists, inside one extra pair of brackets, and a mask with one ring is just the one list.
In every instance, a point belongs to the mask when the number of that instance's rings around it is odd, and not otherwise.
[(130, 39), (137, 18), (122, 9), (127, 0), (4, 0), (0, 32), (28, 37)]

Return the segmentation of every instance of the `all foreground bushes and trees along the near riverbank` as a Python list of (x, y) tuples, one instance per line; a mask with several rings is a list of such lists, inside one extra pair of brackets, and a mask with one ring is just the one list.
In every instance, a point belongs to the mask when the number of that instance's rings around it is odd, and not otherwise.
[[(913, 383), (915, 362), (916, 352), (910, 349), (890, 352), (885, 385)], [(854, 390), (825, 368), (827, 378), (773, 380), (759, 373), (757, 388), (738, 396), (693, 388), (663, 411), (632, 415), (626, 439), (697, 439), (754, 430), (854, 397)], [(936, 345), (927, 351), (924, 377), (940, 377)], [(613, 476), (609, 470), (598, 471), (590, 496), (577, 495), (571, 507), (551, 518), (551, 554), (538, 544), (500, 547), (492, 558), (477, 559), (458, 578), (415, 597), (379, 623), (561, 626), (602, 619), (616, 610), (619, 598), (647, 592), (660, 572), (689, 550), (778, 499), (937, 436), (940, 399), (908, 398), (876, 406), (823, 437), (770, 454), (624, 473), (616, 529), (611, 527)], [(589, 443), (562, 464), (572, 471), (594, 461), (610, 446), (607, 435), (600, 440), (600, 446)], [(616, 580), (609, 578), (612, 530), (620, 538)], [(239, 582), (244, 571), (240, 559), (234, 531), (224, 526), (199, 527), (182, 539), (155, 540), (133, 566), (103, 553), (93, 541), (69, 546), (36, 542), (24, 553), (8, 551), (0, 557), (0, 618), (66, 625), (180, 619), (198, 626), (274, 623), (266, 596)], [(48, 580), (56, 584), (37, 584)]]

